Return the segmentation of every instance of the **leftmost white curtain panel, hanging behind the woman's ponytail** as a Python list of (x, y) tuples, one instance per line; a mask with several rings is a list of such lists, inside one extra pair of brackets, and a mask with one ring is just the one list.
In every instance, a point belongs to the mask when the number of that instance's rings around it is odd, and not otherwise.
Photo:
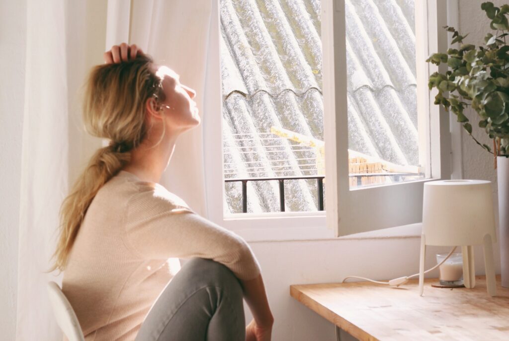
[(26, 3), (16, 339), (56, 340), (45, 273), (68, 190), (66, 4)]

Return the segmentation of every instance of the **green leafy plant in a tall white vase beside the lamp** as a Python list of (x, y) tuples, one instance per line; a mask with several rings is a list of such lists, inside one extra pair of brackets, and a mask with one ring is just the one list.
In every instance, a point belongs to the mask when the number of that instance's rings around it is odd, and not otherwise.
[[(435, 104), (451, 110), (458, 122), (473, 140), (493, 154), (497, 168), (499, 244), (502, 270), (502, 286), (509, 287), (509, 5), (495, 7), (486, 2), (481, 9), (491, 19), (492, 33), (486, 34), (485, 46), (464, 43), (454, 27), (445, 26), (453, 33), (451, 44), (459, 43), (459, 49), (449, 48), (446, 53), (434, 53), (426, 61), (440, 65), (446, 63), (449, 70), (435, 72), (430, 76), (430, 90), (436, 88)], [(448, 92), (448, 96), (446, 93)], [(488, 134), (492, 145), (479, 142), (472, 135), (472, 125), (464, 115), (471, 107), (479, 118), (478, 127)], [(491, 144), (491, 143), (490, 143)]]

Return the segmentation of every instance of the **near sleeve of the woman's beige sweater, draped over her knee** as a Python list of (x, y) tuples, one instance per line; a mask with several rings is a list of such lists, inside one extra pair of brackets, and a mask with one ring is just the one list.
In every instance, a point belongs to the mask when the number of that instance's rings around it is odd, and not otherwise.
[(224, 264), (241, 280), (260, 274), (260, 265), (239, 235), (195, 213), (178, 196), (147, 182), (128, 201), (126, 244), (142, 258), (207, 258)]

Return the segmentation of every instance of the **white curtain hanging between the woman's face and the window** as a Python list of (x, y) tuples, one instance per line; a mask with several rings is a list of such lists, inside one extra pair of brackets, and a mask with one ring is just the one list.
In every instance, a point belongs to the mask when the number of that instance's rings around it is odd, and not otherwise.
[(181, 82), (197, 92), (202, 123), (179, 137), (161, 184), (205, 217), (204, 123), (208, 115), (219, 114), (208, 112), (204, 101), (212, 1), (133, 0), (129, 27), (130, 43), (175, 70)]

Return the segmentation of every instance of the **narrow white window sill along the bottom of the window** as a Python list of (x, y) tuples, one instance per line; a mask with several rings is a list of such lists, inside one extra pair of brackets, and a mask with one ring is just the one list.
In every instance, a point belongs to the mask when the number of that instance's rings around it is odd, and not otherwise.
[(278, 227), (233, 230), (249, 243), (291, 242), (317, 240), (359, 240), (359, 239), (406, 239), (420, 238), (422, 223), (409, 224), (388, 229), (355, 233), (343, 237), (334, 237), (334, 232), (325, 226), (319, 227)]

